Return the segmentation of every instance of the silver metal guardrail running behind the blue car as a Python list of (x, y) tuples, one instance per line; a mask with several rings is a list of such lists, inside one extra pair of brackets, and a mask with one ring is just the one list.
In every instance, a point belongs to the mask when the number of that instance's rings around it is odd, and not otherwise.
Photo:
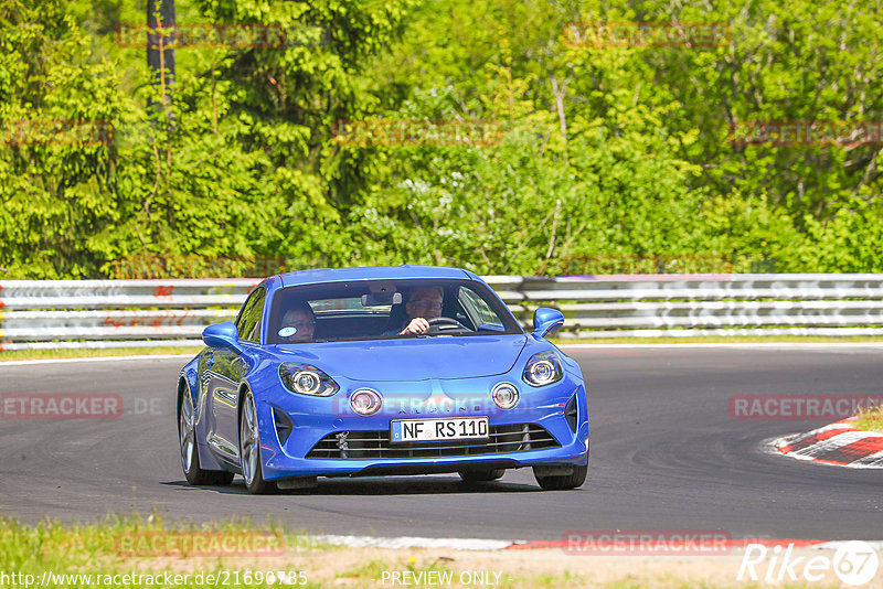
[[(488, 276), (525, 326), (563, 339), (883, 335), (883, 275)], [(259, 279), (0, 281), (0, 350), (201, 345)]]

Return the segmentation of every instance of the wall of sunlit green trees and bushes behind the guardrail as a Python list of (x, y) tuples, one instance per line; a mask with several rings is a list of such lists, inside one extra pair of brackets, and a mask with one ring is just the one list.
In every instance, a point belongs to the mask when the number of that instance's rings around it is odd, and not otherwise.
[[(179, 24), (277, 28), (285, 43), (180, 47), (163, 101), (143, 47), (115, 41), (143, 7), (0, 8), (0, 278), (111, 276), (116, 260), (157, 256), (883, 271), (879, 144), (732, 141), (752, 120), (883, 120), (879, 2), (178, 0), (177, 11)], [(732, 34), (709, 46), (568, 36), (573, 23), (637, 21)], [(366, 120), (383, 140), (336, 137)], [(34, 135), (57, 121), (75, 124)], [(57, 140), (95, 127), (84, 121), (113, 133)]]

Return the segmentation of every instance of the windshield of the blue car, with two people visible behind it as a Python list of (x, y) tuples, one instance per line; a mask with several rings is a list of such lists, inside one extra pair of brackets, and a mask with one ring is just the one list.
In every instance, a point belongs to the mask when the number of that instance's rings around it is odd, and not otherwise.
[[(419, 333), (406, 332), (422, 319)], [(288, 287), (273, 297), (267, 343), (523, 333), (474, 280), (384, 280)]]

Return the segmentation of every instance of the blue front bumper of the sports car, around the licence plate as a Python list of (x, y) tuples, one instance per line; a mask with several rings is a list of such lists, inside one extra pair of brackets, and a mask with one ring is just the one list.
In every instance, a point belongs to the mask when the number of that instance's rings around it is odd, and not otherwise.
[[(499, 379), (497, 379), (499, 382)], [(511, 379), (507, 381), (512, 384)], [(492, 383), (487, 385), (488, 390)], [(467, 393), (475, 390), (475, 383), (433, 382), (433, 383), (384, 383), (379, 386), (350, 384), (332, 397), (312, 398), (295, 395), (286, 389), (274, 389), (270, 394), (258, 395), (258, 420), (262, 425), (260, 450), (264, 478), (268, 481), (291, 476), (368, 476), (381, 474), (422, 474), (434, 472), (456, 472), (468, 468), (521, 468), (532, 465), (584, 465), (588, 460), (588, 404), (585, 388), (578, 379), (566, 376), (563, 381), (542, 388), (531, 388), (519, 383), (519, 404), (508, 410), (498, 408), (490, 394)], [(350, 394), (359, 388), (373, 388), (384, 397), (384, 405), (373, 416), (357, 415), (349, 405)], [(424, 387), (424, 390), (414, 390)], [(485, 386), (478, 387), (485, 388)], [(568, 420), (565, 415), (568, 403), (575, 401), (576, 416)], [(280, 417), (281, 416), (281, 417)], [(394, 419), (434, 419), (444, 417), (487, 416), (491, 431), (502, 431), (508, 442), (497, 448), (483, 449), (480, 441), (469, 442), (412, 442), (411, 448), (427, 449), (411, 452), (414, 457), (403, 457), (407, 451), (390, 452), (365, 451), (364, 446), (357, 451), (340, 452), (336, 458), (307, 458), (317, 447), (331, 448), (328, 439), (348, 432), (351, 438), (366, 438), (389, 433), (390, 421)], [(290, 421), (290, 435), (277, 425)], [(519, 431), (544, 431), (543, 439), (552, 440), (544, 445), (514, 443)], [(538, 433), (538, 436), (541, 436)], [(280, 441), (281, 439), (281, 441)], [(322, 440), (326, 440), (322, 446)], [(344, 440), (347, 438), (344, 437)], [(389, 437), (387, 437), (389, 439)], [(493, 439), (493, 436), (491, 436)], [(524, 438), (529, 440), (529, 438)], [(377, 448), (384, 442), (379, 441)], [(468, 450), (447, 450), (448, 454), (435, 452), (435, 447), (450, 448), (469, 446)], [(543, 446), (536, 449), (538, 446)], [(402, 445), (385, 448), (401, 449)], [(503, 449), (506, 451), (500, 451)], [(375, 453), (371, 458), (362, 458)], [(322, 456), (330, 456), (326, 451)], [(345, 458), (344, 458), (345, 457)]]

